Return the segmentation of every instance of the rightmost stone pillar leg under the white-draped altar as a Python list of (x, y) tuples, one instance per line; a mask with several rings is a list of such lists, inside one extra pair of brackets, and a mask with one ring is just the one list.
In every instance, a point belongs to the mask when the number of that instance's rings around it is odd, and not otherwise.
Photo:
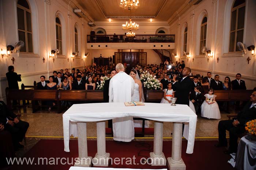
[(167, 158), (169, 170), (186, 170), (181, 158), (182, 123), (173, 122), (172, 157)]

